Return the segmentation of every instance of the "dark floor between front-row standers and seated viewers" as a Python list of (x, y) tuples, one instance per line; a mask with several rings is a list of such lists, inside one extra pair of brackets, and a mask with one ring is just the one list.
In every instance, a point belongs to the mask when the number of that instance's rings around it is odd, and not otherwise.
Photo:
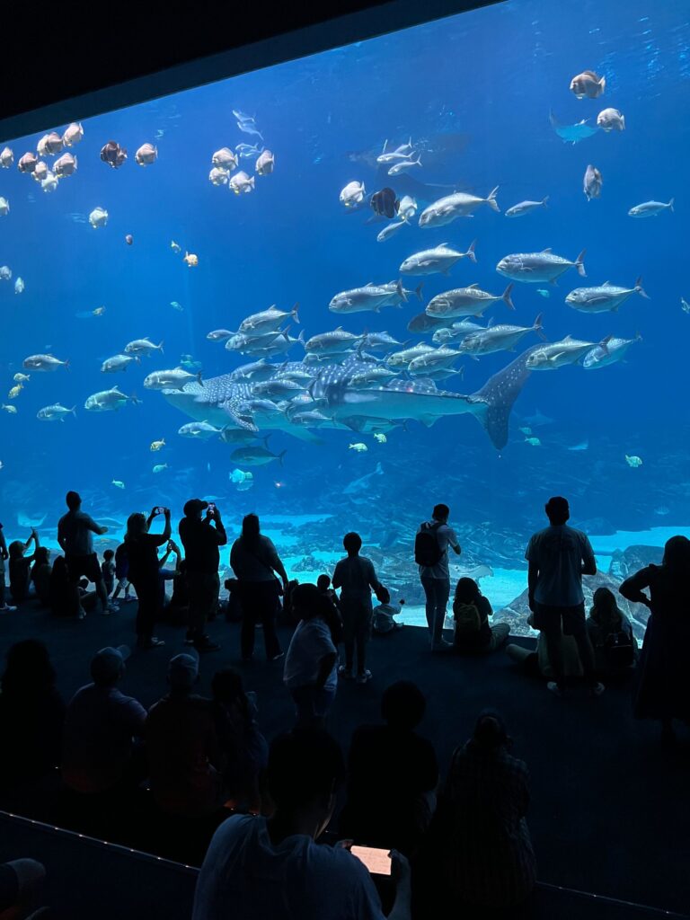
[[(55, 619), (31, 606), (0, 615), (0, 654), (18, 638), (47, 642), (65, 699), (89, 680), (88, 662), (104, 645), (131, 643), (136, 604), (120, 614), (84, 621)], [(201, 660), (200, 693), (213, 672), (242, 668), (246, 688), (259, 694), (259, 724), (270, 739), (289, 727), (292, 707), (281, 682), (282, 662), (239, 661), (238, 627), (210, 627), (222, 650)], [(122, 689), (150, 706), (165, 693), (167, 660), (184, 650), (184, 628), (161, 626), (166, 646), (134, 651)], [(284, 647), (290, 630), (282, 629)], [(529, 640), (520, 640), (523, 643)], [(444, 771), (454, 746), (466, 739), (479, 709), (498, 707), (532, 776), (529, 825), (545, 882), (624, 901), (686, 912), (690, 905), (690, 744), (661, 750), (656, 726), (632, 719), (630, 687), (607, 688), (591, 699), (573, 691), (566, 699), (524, 677), (501, 651), (489, 658), (432, 656), (426, 632), (406, 627), (374, 638), (367, 685), (341, 684), (330, 728), (343, 744), (362, 721), (378, 718), (387, 684), (415, 680), (427, 696), (420, 730), (436, 745)]]

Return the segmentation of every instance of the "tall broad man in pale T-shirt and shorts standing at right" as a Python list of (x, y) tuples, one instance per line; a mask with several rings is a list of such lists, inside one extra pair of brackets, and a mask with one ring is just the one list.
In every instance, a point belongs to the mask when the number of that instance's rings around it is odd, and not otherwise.
[(587, 634), (584, 617), (582, 576), (596, 575), (594, 552), (587, 535), (569, 527), (568, 500), (555, 496), (546, 502), (548, 527), (533, 535), (524, 557), (529, 562), (529, 605), (534, 614), (535, 629), (541, 629), (546, 639), (548, 663), (555, 680), (548, 689), (562, 696), (565, 692), (563, 675), (562, 632), (575, 639), (585, 681), (596, 695), (604, 691), (594, 676), (594, 653)]

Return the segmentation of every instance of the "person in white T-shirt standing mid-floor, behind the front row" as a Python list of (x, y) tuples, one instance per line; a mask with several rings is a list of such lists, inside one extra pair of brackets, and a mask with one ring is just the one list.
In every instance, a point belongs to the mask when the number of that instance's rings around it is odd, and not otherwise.
[(338, 648), (328, 625), (337, 612), (315, 584), (297, 585), (293, 608), (299, 623), (285, 658), (283, 680), (293, 697), (297, 724), (325, 728), (338, 690)]

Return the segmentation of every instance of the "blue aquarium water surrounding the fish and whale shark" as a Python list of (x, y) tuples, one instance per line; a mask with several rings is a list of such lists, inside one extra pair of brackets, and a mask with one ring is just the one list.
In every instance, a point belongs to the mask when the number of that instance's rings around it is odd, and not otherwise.
[[(121, 523), (134, 510), (161, 503), (181, 513), (190, 496), (213, 495), (231, 530), (248, 511), (269, 521), (280, 517), (274, 535), (290, 558), (337, 554), (340, 536), (354, 527), (400, 568), (410, 565), (416, 523), (444, 500), (469, 548), (468, 564), (514, 568), (518, 593), (523, 546), (541, 525), (550, 494), (569, 496), (573, 523), (594, 534), (625, 532), (631, 543), (646, 542), (653, 527), (687, 526), (690, 315), (681, 298), (690, 298), (684, 167), (690, 24), (687, 7), (674, 2), (632, 2), (619, 14), (610, 0), (498, 4), (109, 112), (83, 121), (84, 139), (72, 150), (78, 170), (52, 194), (17, 171), (18, 157), (35, 150), (40, 135), (6, 139), (15, 166), (0, 170), (0, 195), (11, 209), (0, 217), (0, 265), (13, 278), (0, 281), (0, 384), (5, 404), (17, 408), (17, 414), (0, 412), (0, 520), (7, 536), (23, 536), (19, 522), (43, 516), (50, 536), (66, 489), (78, 489), (97, 516)], [(578, 100), (569, 81), (588, 68), (605, 76), (605, 94)], [(623, 112), (625, 132), (598, 132), (571, 145), (549, 124), (550, 109), (563, 124), (594, 124), (606, 107)], [(238, 129), (232, 109), (256, 117), (275, 155), (275, 171), (257, 176), (247, 195), (208, 180), (215, 150), (254, 140)], [(64, 127), (46, 125), (46, 131)], [(485, 197), (495, 186), (501, 213), (481, 206), (471, 219), (424, 230), (415, 219), (377, 243), (384, 224), (367, 224), (369, 195), (385, 185), (398, 194), (404, 189), (396, 178), (377, 175), (375, 156), (386, 139), (397, 146), (408, 137), (422, 161), (409, 175), (450, 187), (427, 190), (427, 200), (418, 196), (418, 215), (451, 190)], [(110, 139), (129, 151), (117, 170), (99, 158)], [(144, 142), (158, 149), (155, 164), (145, 168), (133, 158)], [(604, 178), (595, 201), (582, 192), (588, 164)], [(240, 168), (253, 175), (254, 160), (242, 160)], [(354, 179), (364, 182), (367, 201), (350, 212), (339, 191)], [(518, 201), (546, 195), (548, 209), (504, 216)], [(627, 216), (641, 201), (672, 197), (673, 213)], [(109, 221), (95, 230), (86, 218), (97, 206)], [(251, 361), (206, 335), (235, 330), (243, 317), (271, 304), (289, 310), (299, 302), (301, 325), (290, 329), (293, 336), (342, 325), (356, 333), (387, 330), (412, 344), (429, 340), (431, 334), (406, 329), (423, 309), (414, 297), (402, 309), (353, 316), (329, 313), (328, 303), (339, 291), (397, 280), (413, 252), (441, 242), (464, 251), (473, 239), (476, 266), (464, 259), (447, 278), (406, 278), (406, 287), (423, 281), (424, 304), (474, 282), (500, 293), (507, 282), (495, 266), (503, 256), (552, 247), (575, 259), (586, 249), (586, 280), (569, 270), (558, 286), (516, 282), (514, 314), (499, 301), (486, 316), (531, 326), (543, 312), (551, 341), (567, 334), (592, 342), (610, 334), (642, 337), (625, 363), (531, 374), (500, 451), (477, 420), (463, 415), (430, 428), (411, 419), (388, 432), (386, 443), (348, 430), (318, 431), (322, 443), (304, 443), (279, 431), (269, 446), (287, 451), (282, 466), (242, 467), (230, 460), (233, 445), (178, 436), (190, 418), (144, 389), (146, 374), (176, 367), (183, 354), (201, 362), (206, 379)], [(197, 267), (182, 260), (186, 250), (198, 255)], [(575, 287), (605, 281), (632, 287), (640, 275), (650, 299), (633, 294), (618, 312), (587, 315), (564, 303)], [(17, 276), (26, 282), (21, 294), (14, 293)], [(101, 306), (102, 316), (77, 316)], [(100, 373), (101, 362), (144, 336), (164, 341), (164, 354), (154, 352), (124, 374)], [(536, 342), (530, 334), (523, 346)], [(13, 374), (37, 352), (68, 359), (69, 370), (30, 373), (19, 396), (9, 399)], [(299, 361), (303, 353), (296, 345), (289, 357)], [(473, 393), (515, 357), (499, 352), (459, 361), (464, 379), (438, 385)], [(84, 409), (86, 397), (115, 384), (142, 404), (99, 414)], [(76, 418), (37, 420), (40, 408), (58, 401), (75, 406)], [(527, 421), (535, 414), (546, 423)], [(531, 427), (541, 443), (526, 443), (520, 427)], [(270, 431), (260, 421), (259, 428), (262, 435)], [(165, 448), (151, 452), (159, 439)], [(358, 453), (351, 443), (368, 450)], [(584, 449), (569, 449), (578, 445)], [(640, 457), (642, 466), (628, 466), (626, 454)], [(383, 475), (368, 488), (344, 492), (378, 463)], [(157, 464), (167, 468), (154, 473)], [(239, 491), (229, 480), (235, 468), (253, 473), (251, 489)], [(321, 523), (299, 517), (309, 514)]]

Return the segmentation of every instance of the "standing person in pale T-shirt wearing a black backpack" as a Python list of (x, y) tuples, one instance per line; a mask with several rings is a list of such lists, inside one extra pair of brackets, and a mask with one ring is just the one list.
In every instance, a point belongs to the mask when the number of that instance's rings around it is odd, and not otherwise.
[(443, 622), (451, 593), (448, 569), (448, 546), (460, 555), (460, 544), (448, 526), (448, 505), (436, 505), (431, 521), (420, 524), (415, 537), (415, 562), (420, 567), (420, 581), (426, 596), (427, 624), (431, 634), (431, 651), (441, 651), (452, 643), (443, 638)]

